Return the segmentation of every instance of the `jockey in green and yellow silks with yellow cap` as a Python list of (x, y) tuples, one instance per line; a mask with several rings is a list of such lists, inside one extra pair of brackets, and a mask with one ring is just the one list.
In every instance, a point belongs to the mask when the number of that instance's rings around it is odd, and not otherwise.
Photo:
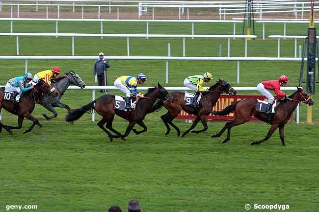
[(204, 75), (194, 75), (188, 76), (184, 80), (184, 86), (195, 91), (195, 96), (193, 98), (192, 106), (199, 107), (199, 102), (197, 101), (200, 92), (207, 92), (208, 89), (203, 88), (204, 82), (209, 82), (213, 79), (213, 75), (210, 72), (204, 73)]

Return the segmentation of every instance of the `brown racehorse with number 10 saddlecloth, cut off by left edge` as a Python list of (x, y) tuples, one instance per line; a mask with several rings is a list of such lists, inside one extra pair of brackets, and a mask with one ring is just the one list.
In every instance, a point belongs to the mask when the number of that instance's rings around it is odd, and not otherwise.
[(31, 113), (34, 110), (34, 106), (41, 95), (49, 94), (51, 89), (52, 87), (50, 85), (45, 83), (43, 80), (40, 80), (33, 89), (27, 91), (20, 98), (20, 101), (18, 103), (3, 101), (4, 88), (0, 89), (0, 111), (2, 108), (4, 108), (9, 113), (17, 115), (19, 117), (17, 127), (7, 126), (0, 122), (0, 132), (2, 131), (2, 128), (4, 128), (10, 135), (13, 135), (11, 129), (21, 129), (24, 118), (31, 120), (33, 123), (27, 130), (23, 131), (23, 133), (30, 132), (35, 125), (38, 125), (42, 128), (43, 125), (40, 124), (39, 120), (37, 118), (34, 118)]

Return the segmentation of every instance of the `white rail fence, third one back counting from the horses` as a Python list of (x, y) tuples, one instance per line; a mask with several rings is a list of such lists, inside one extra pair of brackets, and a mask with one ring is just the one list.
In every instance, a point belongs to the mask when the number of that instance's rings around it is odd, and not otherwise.
[(243, 38), (245, 39), (244, 55), (247, 57), (247, 39), (257, 38), (255, 35), (165, 35), (165, 34), (83, 34), (83, 33), (0, 33), (0, 36), (16, 36), (16, 50), (19, 55), (19, 37), (22, 36), (48, 36), (48, 37), (71, 37), (72, 38), (72, 55), (74, 55), (74, 40), (75, 37), (119, 37), (126, 38), (127, 55), (130, 56), (130, 38), (182, 38), (183, 39), (183, 57), (186, 56), (186, 38), (227, 38), (227, 55), (230, 57), (230, 39)]

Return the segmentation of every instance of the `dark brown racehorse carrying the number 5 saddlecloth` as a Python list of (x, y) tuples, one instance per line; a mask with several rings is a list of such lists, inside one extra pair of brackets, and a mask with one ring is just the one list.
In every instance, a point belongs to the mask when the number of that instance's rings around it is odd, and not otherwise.
[[(130, 134), (131, 130), (133, 130), (136, 135), (147, 131), (147, 127), (144, 124), (143, 120), (145, 116), (150, 113), (150, 109), (153, 107), (157, 99), (160, 99), (161, 101), (165, 100), (172, 102), (172, 97), (170, 96), (170, 94), (168, 94), (165, 88), (160, 85), (160, 83), (158, 83), (157, 87), (149, 89), (148, 93), (144, 95), (144, 98), (138, 99), (133, 111), (126, 112), (114, 109), (114, 99), (114, 95), (103, 95), (77, 110), (72, 110), (70, 113), (67, 114), (66, 121), (72, 122), (78, 120), (80, 117), (83, 116), (84, 113), (94, 110), (103, 117), (102, 120), (98, 122), (98, 126), (107, 134), (109, 140), (113, 141), (113, 138), (121, 138), (123, 141), (125, 141), (125, 137)], [(115, 114), (129, 121), (129, 125), (126, 128), (124, 135), (120, 134), (112, 127), (112, 122)], [(143, 127), (143, 130), (137, 131), (133, 129), (136, 123)], [(104, 127), (105, 124), (106, 128), (116, 135), (112, 135)]]

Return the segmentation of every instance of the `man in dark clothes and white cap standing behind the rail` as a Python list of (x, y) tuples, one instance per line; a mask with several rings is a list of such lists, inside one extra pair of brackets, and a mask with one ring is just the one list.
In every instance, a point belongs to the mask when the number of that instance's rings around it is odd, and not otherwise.
[[(104, 53), (99, 53), (99, 59), (94, 63), (94, 76), (97, 75), (99, 86), (107, 86), (106, 69), (109, 68), (109, 63), (104, 59)], [(105, 91), (107, 93), (107, 90)], [(103, 93), (100, 90), (99, 93)]]

